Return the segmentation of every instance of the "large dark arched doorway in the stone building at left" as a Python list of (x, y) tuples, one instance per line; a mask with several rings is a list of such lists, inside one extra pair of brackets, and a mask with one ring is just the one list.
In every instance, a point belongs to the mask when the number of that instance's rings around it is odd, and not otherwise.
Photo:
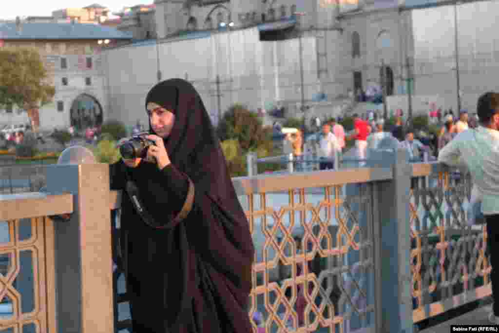
[(78, 131), (100, 126), (103, 120), (102, 107), (93, 96), (81, 94), (73, 101), (69, 117), (71, 126)]

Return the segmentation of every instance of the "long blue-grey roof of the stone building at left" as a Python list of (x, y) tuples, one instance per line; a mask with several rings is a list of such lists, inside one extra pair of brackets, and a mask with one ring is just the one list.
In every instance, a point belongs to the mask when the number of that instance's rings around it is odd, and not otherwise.
[(0, 23), (1, 39), (132, 39), (131, 32), (92, 23)]

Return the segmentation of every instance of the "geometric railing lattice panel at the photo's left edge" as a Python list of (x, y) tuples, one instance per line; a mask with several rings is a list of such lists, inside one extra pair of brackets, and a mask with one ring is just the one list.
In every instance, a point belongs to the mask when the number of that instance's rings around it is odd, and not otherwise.
[(55, 332), (52, 222), (4, 221), (0, 234), (0, 332)]

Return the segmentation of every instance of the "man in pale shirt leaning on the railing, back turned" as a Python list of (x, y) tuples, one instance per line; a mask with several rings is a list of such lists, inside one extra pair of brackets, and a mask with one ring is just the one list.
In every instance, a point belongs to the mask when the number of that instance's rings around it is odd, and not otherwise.
[(495, 300), (489, 320), (499, 325), (499, 94), (482, 95), (478, 99), (477, 113), (479, 127), (459, 133), (442, 148), (438, 159), (452, 166), (466, 166), (474, 183), (472, 194), (478, 193), (482, 198)]

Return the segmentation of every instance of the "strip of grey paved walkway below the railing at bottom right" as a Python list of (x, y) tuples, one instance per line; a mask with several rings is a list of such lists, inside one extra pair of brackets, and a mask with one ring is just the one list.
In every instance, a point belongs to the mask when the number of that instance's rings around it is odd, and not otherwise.
[[(490, 302), (488, 302), (490, 303)], [(467, 312), (465, 314), (462, 314), (461, 316), (452, 318), (448, 321), (445, 322), (440, 322), (436, 325), (433, 323), (429, 322), (427, 323), (429, 326), (428, 327), (422, 327), (422, 330), (419, 331), (420, 333), (449, 333), (451, 332), (451, 325), (491, 325), (489, 323), (489, 313), (492, 311), (492, 305), (484, 305), (482, 307), (479, 307), (473, 311)], [(437, 320), (443, 320), (437, 319)], [(435, 320), (434, 320), (435, 322)], [(431, 325), (431, 326), (430, 326)]]

